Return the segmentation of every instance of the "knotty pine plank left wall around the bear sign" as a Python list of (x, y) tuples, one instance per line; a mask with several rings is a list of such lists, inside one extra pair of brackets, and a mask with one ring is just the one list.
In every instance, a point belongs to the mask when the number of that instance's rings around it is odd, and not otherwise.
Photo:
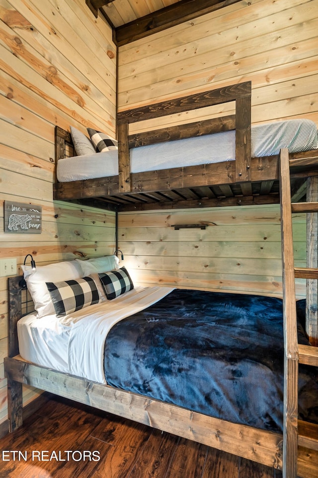
[[(0, 0), (0, 256), (37, 265), (114, 250), (113, 213), (53, 203), (54, 127), (114, 134), (112, 31), (82, 0)], [(3, 233), (3, 201), (42, 206), (40, 235)], [(6, 278), (0, 277), (0, 424), (6, 419)], [(24, 403), (37, 395), (25, 389)], [(5, 430), (5, 423), (1, 427)]]

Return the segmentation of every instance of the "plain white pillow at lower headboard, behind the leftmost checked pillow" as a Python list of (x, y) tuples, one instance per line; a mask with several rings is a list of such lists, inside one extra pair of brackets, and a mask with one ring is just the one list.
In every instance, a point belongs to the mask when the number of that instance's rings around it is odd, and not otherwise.
[(55, 314), (54, 305), (46, 286), (46, 282), (79, 279), (82, 270), (76, 260), (66, 260), (55, 264), (48, 264), (32, 270), (29, 265), (21, 265), (28, 291), (34, 302), (37, 317)]

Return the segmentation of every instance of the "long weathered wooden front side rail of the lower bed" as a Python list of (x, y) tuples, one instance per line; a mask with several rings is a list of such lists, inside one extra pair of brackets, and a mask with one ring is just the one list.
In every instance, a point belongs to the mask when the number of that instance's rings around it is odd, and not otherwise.
[(4, 359), (11, 380), (35, 386), (159, 430), (280, 469), (278, 433), (192, 412), (136, 393), (67, 375), (19, 359)]

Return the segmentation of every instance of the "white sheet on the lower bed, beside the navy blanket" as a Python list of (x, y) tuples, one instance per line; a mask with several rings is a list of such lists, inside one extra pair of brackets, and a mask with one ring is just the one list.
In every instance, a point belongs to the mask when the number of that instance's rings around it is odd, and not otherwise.
[(64, 373), (106, 383), (104, 343), (111, 327), (146, 309), (171, 292), (171, 287), (140, 287), (111, 301), (86, 307), (72, 315), (18, 321), (19, 352), (23, 359)]

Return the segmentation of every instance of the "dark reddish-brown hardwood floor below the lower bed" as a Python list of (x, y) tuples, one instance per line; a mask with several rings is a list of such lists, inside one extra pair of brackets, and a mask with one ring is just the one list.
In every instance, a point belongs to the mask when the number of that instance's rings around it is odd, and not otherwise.
[(0, 478), (281, 478), (274, 469), (51, 399), (0, 439)]

